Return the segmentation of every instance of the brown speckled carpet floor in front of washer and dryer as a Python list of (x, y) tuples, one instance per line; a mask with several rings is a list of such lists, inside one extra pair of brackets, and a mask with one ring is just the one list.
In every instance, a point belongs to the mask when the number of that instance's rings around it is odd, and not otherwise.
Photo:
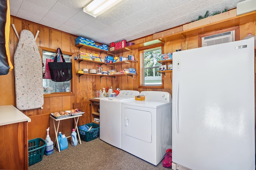
[[(82, 141), (82, 140), (81, 140)], [(29, 170), (171, 170), (164, 168), (162, 161), (150, 164), (122, 149), (96, 138), (77, 146), (43, 156), (42, 161), (29, 166)]]

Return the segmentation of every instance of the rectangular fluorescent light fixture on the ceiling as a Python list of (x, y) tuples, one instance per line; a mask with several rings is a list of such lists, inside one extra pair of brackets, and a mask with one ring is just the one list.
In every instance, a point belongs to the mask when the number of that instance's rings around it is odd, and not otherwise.
[(91, 0), (84, 7), (84, 12), (96, 18), (121, 1), (122, 0)]

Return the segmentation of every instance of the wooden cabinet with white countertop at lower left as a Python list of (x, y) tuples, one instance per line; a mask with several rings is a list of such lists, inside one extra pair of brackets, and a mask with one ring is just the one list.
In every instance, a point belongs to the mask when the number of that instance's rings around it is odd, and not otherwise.
[(0, 169), (28, 170), (28, 121), (16, 107), (0, 106)]

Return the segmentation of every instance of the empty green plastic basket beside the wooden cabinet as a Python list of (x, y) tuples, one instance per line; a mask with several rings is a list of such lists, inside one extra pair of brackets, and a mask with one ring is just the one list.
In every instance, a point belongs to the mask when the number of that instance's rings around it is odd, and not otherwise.
[(28, 140), (28, 166), (43, 159), (46, 141), (42, 138)]

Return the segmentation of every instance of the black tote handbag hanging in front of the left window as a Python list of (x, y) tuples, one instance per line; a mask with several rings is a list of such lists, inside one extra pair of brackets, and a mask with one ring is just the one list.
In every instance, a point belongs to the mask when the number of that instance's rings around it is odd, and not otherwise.
[[(62, 57), (63, 62), (57, 62), (58, 55)], [(54, 62), (50, 62), (48, 65), (52, 81), (66, 82), (72, 79), (72, 63), (66, 63), (60, 48), (57, 49), (57, 56), (55, 57)]]

